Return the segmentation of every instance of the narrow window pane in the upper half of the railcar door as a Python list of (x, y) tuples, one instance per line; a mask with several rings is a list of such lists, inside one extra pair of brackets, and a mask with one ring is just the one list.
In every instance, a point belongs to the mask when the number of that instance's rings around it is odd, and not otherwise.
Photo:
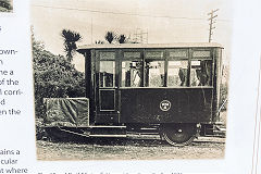
[(115, 86), (115, 62), (100, 61), (100, 87)]

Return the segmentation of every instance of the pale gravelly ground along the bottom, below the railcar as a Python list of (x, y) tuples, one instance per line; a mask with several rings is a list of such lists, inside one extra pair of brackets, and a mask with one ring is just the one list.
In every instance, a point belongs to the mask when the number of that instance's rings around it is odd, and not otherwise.
[(89, 139), (82, 142), (38, 140), (37, 159), (53, 160), (159, 160), (222, 159), (225, 138), (199, 137), (186, 147), (159, 139)]

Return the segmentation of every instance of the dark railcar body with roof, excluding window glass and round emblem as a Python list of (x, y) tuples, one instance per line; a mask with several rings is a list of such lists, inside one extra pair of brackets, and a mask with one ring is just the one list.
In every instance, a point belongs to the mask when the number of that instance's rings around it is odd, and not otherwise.
[[(220, 91), (221, 49), (217, 44), (174, 44), (174, 45), (95, 45), (78, 49), (86, 59), (87, 98), (90, 99), (90, 120), (97, 124), (125, 123), (214, 123), (219, 121), (217, 104)], [(184, 51), (171, 58), (171, 51)], [(148, 52), (162, 52), (162, 57), (148, 58)], [(201, 52), (200, 52), (201, 51)], [(124, 53), (138, 52), (139, 58), (124, 58)], [(101, 58), (108, 53), (108, 58)], [(113, 58), (111, 57), (113, 53)], [(202, 55), (200, 55), (200, 53)], [(142, 78), (140, 87), (122, 87), (122, 62), (140, 60), (188, 61), (187, 77), (191, 70), (191, 61), (211, 61), (211, 85), (169, 87), (164, 79), (160, 87), (146, 87)], [(101, 87), (100, 62), (114, 62), (114, 85)], [(166, 65), (164, 76), (167, 76)], [(145, 67), (144, 67), (145, 69)], [(142, 72), (145, 73), (145, 72)], [(160, 103), (167, 100), (171, 109), (162, 111)]]

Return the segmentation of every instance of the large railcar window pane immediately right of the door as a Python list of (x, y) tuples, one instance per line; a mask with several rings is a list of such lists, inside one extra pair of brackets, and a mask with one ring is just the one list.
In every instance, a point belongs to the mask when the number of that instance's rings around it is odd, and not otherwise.
[(142, 75), (141, 61), (122, 62), (122, 87), (140, 87)]

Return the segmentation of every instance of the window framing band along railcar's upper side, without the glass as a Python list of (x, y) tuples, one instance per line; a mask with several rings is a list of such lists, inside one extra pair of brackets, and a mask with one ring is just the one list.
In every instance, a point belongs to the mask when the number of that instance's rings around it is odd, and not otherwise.
[[(184, 55), (181, 53), (179, 55), (176, 57), (171, 57), (171, 52), (178, 52), (178, 51), (184, 51), (186, 52)], [(196, 51), (209, 51), (210, 57), (192, 57), (194, 52)], [(103, 59), (100, 57), (101, 52), (114, 52), (114, 58), (109, 58), (109, 59)], [(125, 52), (139, 52), (140, 57), (124, 57)], [(162, 57), (156, 57), (156, 58), (150, 58), (148, 57), (148, 52), (162, 52)], [(99, 84), (100, 88), (209, 88), (213, 87), (213, 76), (214, 76), (214, 57), (213, 57), (213, 49), (212, 48), (123, 48), (123, 49), (98, 49), (96, 50), (96, 62), (99, 64), (97, 65), (97, 72), (98, 72), (98, 79), (96, 80)], [(146, 74), (145, 74), (145, 66), (146, 66), (146, 60), (149, 61), (163, 61), (164, 62), (164, 79), (163, 79), (163, 86), (158, 86), (158, 87), (151, 87), (151, 86), (146, 86)], [(208, 86), (191, 86), (191, 61), (212, 61), (211, 62), (211, 77), (210, 77), (210, 85)], [(113, 82), (113, 87), (101, 87), (100, 86), (100, 62), (101, 61), (113, 61), (114, 62), (114, 82)], [(122, 63), (124, 61), (139, 61), (142, 62), (142, 70), (141, 70), (141, 85), (139, 87), (126, 87), (122, 85)], [(169, 78), (169, 61), (187, 61), (188, 66), (187, 66), (187, 82), (185, 86), (167, 86), (167, 78)]]

